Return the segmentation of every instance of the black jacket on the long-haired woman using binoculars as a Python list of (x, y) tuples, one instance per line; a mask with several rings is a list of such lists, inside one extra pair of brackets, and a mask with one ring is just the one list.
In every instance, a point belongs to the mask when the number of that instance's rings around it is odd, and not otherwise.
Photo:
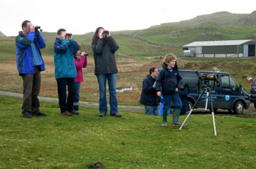
[(116, 74), (115, 52), (118, 45), (112, 36), (107, 39), (99, 39), (97, 44), (92, 43), (91, 48), (94, 51), (94, 74)]

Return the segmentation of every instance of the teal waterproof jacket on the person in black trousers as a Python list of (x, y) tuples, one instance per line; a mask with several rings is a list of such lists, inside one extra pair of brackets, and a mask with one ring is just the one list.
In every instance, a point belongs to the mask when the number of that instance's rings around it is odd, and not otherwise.
[(54, 42), (55, 78), (75, 78), (77, 71), (73, 54), (78, 52), (79, 46), (75, 40), (56, 38)]

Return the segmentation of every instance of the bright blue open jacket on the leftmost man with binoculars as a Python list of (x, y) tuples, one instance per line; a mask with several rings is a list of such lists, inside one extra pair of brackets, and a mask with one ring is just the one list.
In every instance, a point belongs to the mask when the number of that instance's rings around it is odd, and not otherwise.
[[(34, 36), (34, 31), (29, 32), (28, 36), (25, 36), (22, 31), (20, 31), (19, 35), (15, 39), (15, 44), (17, 48), (17, 68), (20, 76), (21, 74), (34, 74), (34, 63), (31, 51), (31, 43), (34, 42)], [(45, 40), (42, 38), (42, 35), (40, 33), (37, 35), (37, 41), (35, 42), (35, 44), (39, 50), (42, 59), (40, 49), (45, 47)], [(40, 66), (40, 68), (40, 71), (45, 71), (44, 60), (42, 60), (42, 65)]]

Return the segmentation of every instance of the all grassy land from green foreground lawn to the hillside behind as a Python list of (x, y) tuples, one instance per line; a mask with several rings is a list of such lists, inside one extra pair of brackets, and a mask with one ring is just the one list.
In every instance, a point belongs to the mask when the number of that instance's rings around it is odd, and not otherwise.
[[(246, 82), (246, 77), (256, 76), (256, 58), (181, 58), (181, 47), (140, 40), (182, 46), (193, 41), (256, 39), (254, 26), (164, 25), (111, 34), (120, 47), (116, 52), (117, 89), (135, 88), (117, 93), (119, 105), (140, 105), (148, 69), (162, 68), (161, 57), (169, 52), (178, 56), (178, 68), (211, 71), (217, 67), (232, 74), (247, 92), (250, 82)], [(42, 50), (46, 71), (42, 72), (40, 95), (57, 98), (53, 63), (56, 33), (42, 35), (46, 42)], [(98, 102), (92, 33), (73, 37), (89, 53), (81, 101)], [(22, 93), (15, 58), (15, 37), (0, 37), (0, 89)], [(0, 96), (0, 168), (87, 168), (91, 162), (102, 162), (104, 168), (256, 168), (254, 115), (217, 115), (215, 137), (211, 114), (192, 114), (186, 127), (178, 131), (170, 127), (171, 116), (169, 126), (162, 128), (162, 117), (146, 116), (143, 112), (120, 110), (122, 118), (100, 118), (97, 108), (80, 107), (79, 116), (63, 117), (57, 103), (41, 102), (41, 111), (47, 117), (24, 119), (21, 105), (20, 98)]]

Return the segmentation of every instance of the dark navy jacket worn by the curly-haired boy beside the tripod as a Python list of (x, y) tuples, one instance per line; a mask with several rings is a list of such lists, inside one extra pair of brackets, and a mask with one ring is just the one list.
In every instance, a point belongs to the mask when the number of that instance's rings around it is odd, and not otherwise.
[(161, 92), (162, 95), (172, 95), (175, 93), (176, 88), (181, 85), (181, 74), (178, 71), (177, 63), (173, 68), (173, 72), (170, 72), (165, 63), (162, 64), (162, 71), (157, 76), (156, 92)]

